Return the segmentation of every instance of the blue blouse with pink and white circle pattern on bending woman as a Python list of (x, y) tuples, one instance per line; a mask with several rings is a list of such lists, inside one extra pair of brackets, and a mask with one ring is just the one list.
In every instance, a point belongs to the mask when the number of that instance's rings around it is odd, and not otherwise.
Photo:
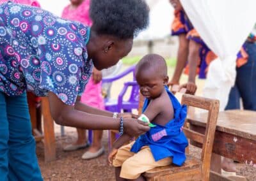
[(0, 6), (0, 91), (17, 96), (54, 92), (74, 105), (92, 74), (86, 43), (90, 29), (40, 8)]

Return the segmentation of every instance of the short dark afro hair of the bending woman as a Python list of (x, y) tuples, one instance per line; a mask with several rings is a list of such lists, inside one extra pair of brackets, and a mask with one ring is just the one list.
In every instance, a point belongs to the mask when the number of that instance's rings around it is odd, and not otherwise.
[(148, 25), (144, 0), (91, 0), (92, 29), (120, 39), (134, 38)]

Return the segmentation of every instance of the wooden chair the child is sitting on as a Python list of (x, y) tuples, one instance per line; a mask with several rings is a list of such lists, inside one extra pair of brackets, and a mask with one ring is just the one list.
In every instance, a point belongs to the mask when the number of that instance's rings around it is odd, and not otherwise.
[(214, 142), (216, 122), (218, 119), (219, 101), (184, 94), (182, 96), (182, 105), (193, 106), (209, 111), (205, 135), (196, 133), (189, 129), (189, 127), (184, 127), (183, 129), (184, 133), (190, 140), (202, 143), (201, 159), (196, 159), (193, 156), (187, 155), (187, 159), (182, 166), (175, 166), (171, 164), (149, 170), (143, 173), (143, 176), (147, 178), (148, 181), (209, 180), (212, 145)]

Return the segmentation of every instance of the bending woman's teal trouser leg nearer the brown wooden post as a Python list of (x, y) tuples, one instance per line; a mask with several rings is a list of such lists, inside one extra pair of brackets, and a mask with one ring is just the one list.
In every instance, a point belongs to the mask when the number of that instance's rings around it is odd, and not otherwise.
[(5, 96), (9, 124), (8, 180), (42, 180), (31, 131), (26, 93)]

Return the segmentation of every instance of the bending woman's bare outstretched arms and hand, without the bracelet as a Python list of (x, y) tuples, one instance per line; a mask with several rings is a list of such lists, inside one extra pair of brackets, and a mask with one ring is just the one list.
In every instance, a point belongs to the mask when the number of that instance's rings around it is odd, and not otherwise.
[[(113, 119), (112, 113), (106, 112), (106, 117), (98, 115), (96, 109), (77, 110), (75, 106), (65, 105), (54, 93), (49, 92), (49, 106), (52, 118), (63, 126), (79, 127), (83, 129), (120, 129), (120, 119)], [(99, 112), (104, 112), (100, 111)], [(111, 114), (111, 115), (110, 115)], [(131, 136), (138, 136), (148, 131), (149, 127), (137, 119), (124, 119), (124, 132)]]

